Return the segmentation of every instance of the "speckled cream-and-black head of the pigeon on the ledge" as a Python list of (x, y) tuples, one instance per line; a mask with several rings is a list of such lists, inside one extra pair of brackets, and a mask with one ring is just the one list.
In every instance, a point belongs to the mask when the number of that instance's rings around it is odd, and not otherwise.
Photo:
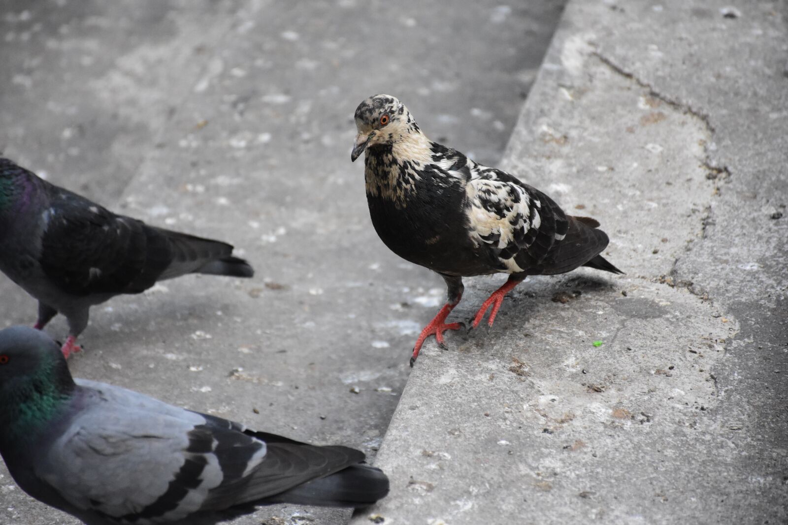
[(355, 144), (350, 160), (355, 161), (366, 150), (381, 144), (393, 144), (411, 133), (419, 132), (418, 124), (405, 105), (396, 97), (376, 94), (355, 109)]

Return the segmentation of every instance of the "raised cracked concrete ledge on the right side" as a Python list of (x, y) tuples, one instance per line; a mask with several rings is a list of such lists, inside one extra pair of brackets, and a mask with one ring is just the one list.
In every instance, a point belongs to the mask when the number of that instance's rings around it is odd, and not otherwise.
[(784, 2), (567, 5), (504, 168), (627, 275), (531, 279), (427, 347), (353, 523), (788, 521), (786, 50)]

